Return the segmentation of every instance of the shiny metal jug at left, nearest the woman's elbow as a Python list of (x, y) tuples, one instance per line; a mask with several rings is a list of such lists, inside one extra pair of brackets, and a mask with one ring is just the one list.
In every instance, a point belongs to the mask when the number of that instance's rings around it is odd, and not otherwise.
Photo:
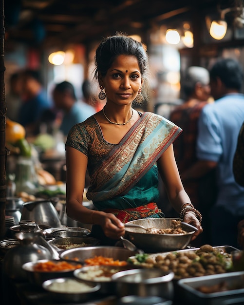
[(49, 200), (29, 201), (23, 204), (21, 220), (33, 220), (38, 225), (62, 227), (57, 210)]

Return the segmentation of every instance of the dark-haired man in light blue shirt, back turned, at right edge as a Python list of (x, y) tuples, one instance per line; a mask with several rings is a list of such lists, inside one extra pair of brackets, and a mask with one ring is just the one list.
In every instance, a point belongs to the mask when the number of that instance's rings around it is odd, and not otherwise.
[(200, 114), (198, 161), (185, 172), (184, 180), (198, 179), (216, 168), (217, 198), (209, 211), (211, 244), (238, 248), (237, 225), (244, 219), (244, 187), (235, 181), (233, 158), (244, 118), (244, 73), (237, 60), (221, 58), (209, 75), (215, 102), (206, 105)]

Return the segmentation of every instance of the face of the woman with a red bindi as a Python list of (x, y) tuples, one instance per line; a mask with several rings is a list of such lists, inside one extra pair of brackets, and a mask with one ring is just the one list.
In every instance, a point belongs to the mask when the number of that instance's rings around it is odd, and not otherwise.
[(118, 105), (130, 104), (138, 95), (142, 82), (138, 60), (131, 55), (116, 57), (106, 76), (99, 78), (99, 84), (105, 88), (107, 102)]

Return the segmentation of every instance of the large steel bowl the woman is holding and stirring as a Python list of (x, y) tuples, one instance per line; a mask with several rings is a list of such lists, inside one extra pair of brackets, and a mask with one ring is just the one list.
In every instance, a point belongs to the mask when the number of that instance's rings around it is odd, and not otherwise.
[[(181, 220), (180, 218), (144, 218), (129, 221), (128, 224), (140, 225), (156, 229), (172, 228), (172, 220)], [(185, 249), (194, 230), (182, 224), (182, 229), (187, 231), (186, 234), (152, 234), (147, 233), (141, 228), (125, 228), (125, 237), (129, 239), (137, 248), (143, 249), (148, 253), (156, 253), (161, 251), (173, 251)]]

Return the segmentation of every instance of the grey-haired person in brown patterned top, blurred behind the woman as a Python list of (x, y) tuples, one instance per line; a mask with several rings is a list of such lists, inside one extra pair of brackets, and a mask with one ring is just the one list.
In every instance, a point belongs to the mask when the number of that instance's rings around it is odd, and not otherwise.
[[(176, 108), (169, 115), (169, 120), (183, 129), (183, 133), (174, 142), (175, 159), (178, 169), (191, 202), (196, 209), (199, 209), (203, 215), (203, 223), (206, 222), (204, 217), (204, 206), (201, 206), (199, 194), (200, 179), (184, 181), (184, 172), (192, 166), (196, 161), (196, 140), (198, 133), (198, 118), (203, 107), (210, 100), (210, 86), (209, 86), (209, 72), (203, 67), (191, 66), (188, 68), (186, 76), (184, 77), (183, 93), (185, 101), (176, 106)], [(206, 204), (206, 198), (205, 198)], [(206, 229), (200, 238), (196, 240), (201, 244), (203, 242)]]

